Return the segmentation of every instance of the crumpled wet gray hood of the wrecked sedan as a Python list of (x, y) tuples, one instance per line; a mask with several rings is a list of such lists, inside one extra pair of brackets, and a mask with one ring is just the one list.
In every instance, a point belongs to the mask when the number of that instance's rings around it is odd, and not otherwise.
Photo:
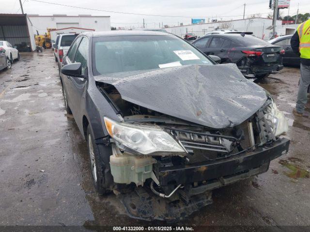
[(122, 99), (206, 127), (233, 127), (258, 111), (267, 96), (235, 64), (186, 65), (95, 76)]

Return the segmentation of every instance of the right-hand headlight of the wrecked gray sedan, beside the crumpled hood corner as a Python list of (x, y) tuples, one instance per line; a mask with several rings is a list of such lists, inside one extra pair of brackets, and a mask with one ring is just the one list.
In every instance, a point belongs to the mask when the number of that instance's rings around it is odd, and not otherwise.
[(288, 131), (288, 122), (284, 114), (279, 111), (276, 103), (272, 98), (271, 103), (264, 109), (264, 116), (269, 122), (269, 125), (271, 126), (272, 131), (276, 137), (279, 137), (281, 134)]

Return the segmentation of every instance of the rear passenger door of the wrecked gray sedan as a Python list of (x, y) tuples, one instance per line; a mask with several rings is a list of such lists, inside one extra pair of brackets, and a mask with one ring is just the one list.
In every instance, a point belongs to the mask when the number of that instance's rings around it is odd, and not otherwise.
[[(74, 62), (74, 58), (78, 49), (78, 44), (81, 42), (82, 37), (78, 37), (71, 45), (67, 56), (64, 57), (63, 62), (61, 63), (61, 66), (66, 65), (66, 64), (71, 64)], [(67, 102), (68, 105), (71, 107), (73, 107), (73, 97), (69, 94), (69, 89), (70, 89), (70, 85), (71, 85), (71, 78), (70, 76), (64, 75), (62, 74), (62, 87), (63, 87), (63, 91), (66, 94), (66, 98), (67, 98)], [(73, 110), (73, 108), (71, 108), (71, 111)]]

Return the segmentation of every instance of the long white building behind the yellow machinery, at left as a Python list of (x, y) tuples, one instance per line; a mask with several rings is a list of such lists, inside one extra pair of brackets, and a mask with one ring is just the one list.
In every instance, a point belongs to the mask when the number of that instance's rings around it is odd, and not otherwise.
[(110, 16), (92, 16), (91, 14), (79, 14), (78, 16), (69, 16), (66, 14), (39, 15), (28, 14), (33, 25), (33, 32), (38, 30), (40, 35), (47, 32), (47, 28), (85, 28), (95, 31), (105, 31), (111, 29)]

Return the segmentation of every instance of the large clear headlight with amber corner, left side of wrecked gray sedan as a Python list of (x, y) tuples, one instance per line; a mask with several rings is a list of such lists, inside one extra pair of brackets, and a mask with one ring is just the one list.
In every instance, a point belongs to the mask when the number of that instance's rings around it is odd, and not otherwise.
[(116, 122), (107, 117), (104, 121), (109, 135), (121, 149), (141, 155), (186, 153), (169, 133), (160, 128)]

